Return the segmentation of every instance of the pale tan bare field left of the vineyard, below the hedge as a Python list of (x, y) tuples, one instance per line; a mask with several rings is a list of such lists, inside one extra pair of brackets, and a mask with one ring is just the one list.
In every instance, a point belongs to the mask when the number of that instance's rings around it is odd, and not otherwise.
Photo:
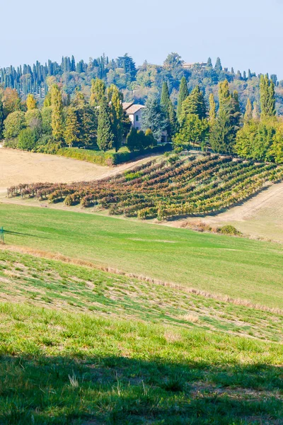
[(109, 167), (55, 155), (2, 148), (0, 149), (0, 192), (6, 192), (8, 186), (19, 183), (39, 181), (71, 183), (103, 179), (145, 161), (149, 161), (149, 158)]

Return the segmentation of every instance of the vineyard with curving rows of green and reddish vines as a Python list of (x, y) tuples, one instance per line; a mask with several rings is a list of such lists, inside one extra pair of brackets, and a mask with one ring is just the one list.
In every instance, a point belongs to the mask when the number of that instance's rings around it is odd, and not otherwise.
[(99, 181), (31, 183), (8, 188), (8, 196), (104, 208), (111, 215), (149, 219), (216, 212), (283, 178), (283, 168), (221, 157), (151, 161)]

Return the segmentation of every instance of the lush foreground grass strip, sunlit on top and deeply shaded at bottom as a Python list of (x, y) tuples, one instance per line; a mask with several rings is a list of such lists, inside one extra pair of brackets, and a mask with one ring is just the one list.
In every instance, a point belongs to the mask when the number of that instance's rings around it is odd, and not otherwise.
[(281, 424), (283, 347), (0, 304), (0, 423)]

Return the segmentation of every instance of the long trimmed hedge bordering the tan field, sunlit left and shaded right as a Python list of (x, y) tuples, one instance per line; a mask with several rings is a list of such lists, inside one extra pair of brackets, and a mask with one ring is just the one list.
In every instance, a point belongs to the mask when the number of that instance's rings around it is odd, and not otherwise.
[(88, 149), (79, 149), (77, 147), (62, 147), (57, 151), (57, 155), (62, 157), (80, 159), (81, 161), (92, 162), (99, 165), (117, 165), (123, 162), (131, 161), (134, 158), (146, 154), (158, 154), (172, 150), (172, 145), (158, 145), (149, 149), (137, 152), (101, 152)]

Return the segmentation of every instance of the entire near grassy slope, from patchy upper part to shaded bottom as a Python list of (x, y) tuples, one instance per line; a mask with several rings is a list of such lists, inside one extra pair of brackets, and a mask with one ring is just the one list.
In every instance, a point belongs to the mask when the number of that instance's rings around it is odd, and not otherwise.
[(0, 250), (0, 423), (282, 424), (282, 314)]

